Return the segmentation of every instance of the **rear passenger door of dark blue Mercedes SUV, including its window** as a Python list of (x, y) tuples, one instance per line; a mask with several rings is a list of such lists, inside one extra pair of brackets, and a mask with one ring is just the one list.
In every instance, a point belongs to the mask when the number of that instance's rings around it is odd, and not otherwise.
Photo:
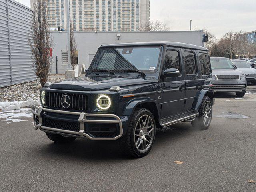
[(193, 109), (193, 104), (202, 89), (200, 70), (198, 68), (197, 52), (195, 50), (183, 49), (183, 63), (185, 66), (185, 107), (184, 112)]

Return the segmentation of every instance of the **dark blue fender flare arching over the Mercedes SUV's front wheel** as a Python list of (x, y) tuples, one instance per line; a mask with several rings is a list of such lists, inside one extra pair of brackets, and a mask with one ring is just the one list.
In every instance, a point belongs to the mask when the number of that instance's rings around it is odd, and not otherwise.
[[(124, 112), (123, 112), (123, 115), (124, 116), (131, 116), (133, 114), (135, 108), (139, 104), (149, 103), (149, 102), (153, 102), (156, 105), (156, 101), (154, 99), (151, 99), (151, 98), (148, 98), (148, 97), (132, 99), (126, 105), (126, 107), (124, 109)], [(156, 105), (156, 110), (157, 110), (158, 116), (160, 116), (157, 105)]]

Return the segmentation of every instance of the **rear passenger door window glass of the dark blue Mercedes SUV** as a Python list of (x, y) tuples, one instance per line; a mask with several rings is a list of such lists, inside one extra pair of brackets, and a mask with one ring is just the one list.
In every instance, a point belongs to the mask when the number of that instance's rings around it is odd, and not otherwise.
[(187, 75), (195, 75), (196, 70), (196, 55), (193, 52), (184, 52), (184, 64)]

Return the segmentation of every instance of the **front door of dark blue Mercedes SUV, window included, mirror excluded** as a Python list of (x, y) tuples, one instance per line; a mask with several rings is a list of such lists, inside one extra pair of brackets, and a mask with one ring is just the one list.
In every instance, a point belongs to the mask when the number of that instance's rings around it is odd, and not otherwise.
[(181, 50), (168, 48), (165, 54), (163, 70), (176, 68), (180, 71), (178, 77), (162, 77), (162, 110), (161, 118), (167, 118), (184, 111), (185, 77), (184, 68), (181, 65)]

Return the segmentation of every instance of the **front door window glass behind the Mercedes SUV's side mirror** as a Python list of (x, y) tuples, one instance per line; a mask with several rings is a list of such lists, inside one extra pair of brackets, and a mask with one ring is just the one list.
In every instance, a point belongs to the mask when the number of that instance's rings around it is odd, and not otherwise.
[(164, 68), (175, 68), (180, 71), (180, 56), (178, 51), (167, 50), (164, 60)]

